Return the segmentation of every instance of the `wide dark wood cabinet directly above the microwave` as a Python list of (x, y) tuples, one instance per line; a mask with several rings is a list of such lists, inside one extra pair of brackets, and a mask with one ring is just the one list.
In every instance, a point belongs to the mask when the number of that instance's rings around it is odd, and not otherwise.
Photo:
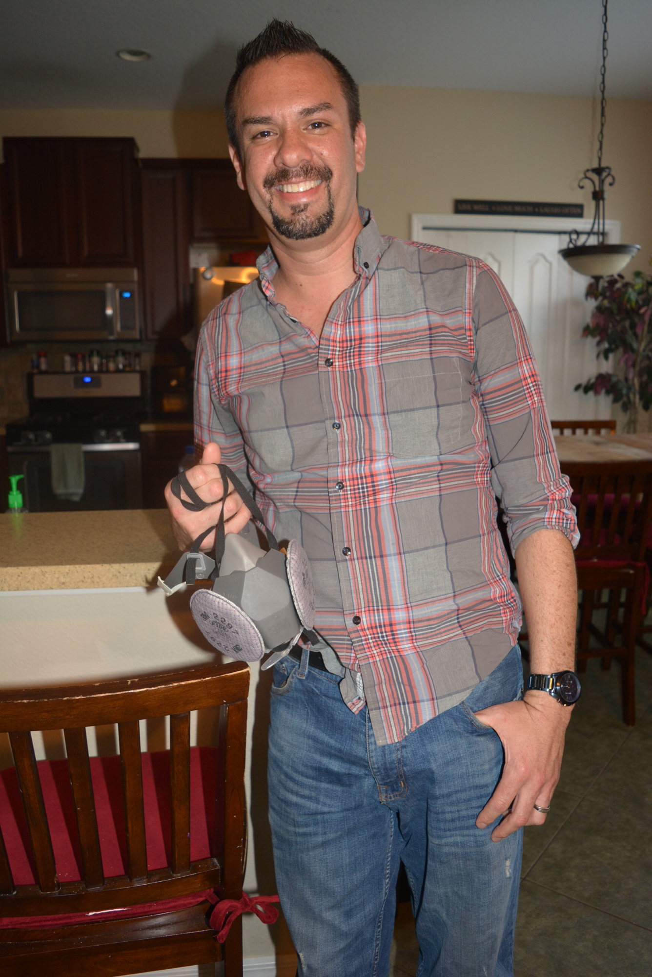
[(133, 139), (5, 138), (9, 263), (137, 263)]

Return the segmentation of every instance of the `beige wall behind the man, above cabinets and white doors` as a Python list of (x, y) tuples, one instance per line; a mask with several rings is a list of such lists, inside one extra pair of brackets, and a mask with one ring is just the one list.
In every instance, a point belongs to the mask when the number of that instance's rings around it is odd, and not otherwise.
[[(410, 214), (453, 212), (456, 197), (584, 202), (594, 159), (595, 105), (586, 98), (362, 86), (368, 165), (359, 196), (386, 234), (407, 237)], [(134, 136), (143, 156), (225, 156), (224, 113), (0, 111), (0, 136)], [(604, 159), (616, 174), (607, 217), (652, 254), (652, 102), (611, 100)]]

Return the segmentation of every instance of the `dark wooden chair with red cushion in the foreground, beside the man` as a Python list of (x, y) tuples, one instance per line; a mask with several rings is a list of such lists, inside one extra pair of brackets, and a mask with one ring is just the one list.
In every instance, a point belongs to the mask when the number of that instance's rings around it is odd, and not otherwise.
[[(9, 797), (0, 915), (31, 917), (31, 926), (54, 917), (46, 928), (0, 928), (3, 977), (115, 977), (221, 959), (226, 977), (241, 977), (241, 917), (221, 945), (206, 919), (212, 906), (197, 894), (242, 897), (248, 687), (248, 666), (234, 663), (0, 693), (15, 763), (0, 782)], [(190, 711), (213, 706), (217, 747), (191, 749)], [(163, 716), (170, 750), (142, 753), (139, 720)], [(89, 760), (85, 727), (112, 723), (119, 756)], [(31, 730), (62, 730), (67, 759), (36, 762)], [(118, 907), (140, 914), (66, 924)]]

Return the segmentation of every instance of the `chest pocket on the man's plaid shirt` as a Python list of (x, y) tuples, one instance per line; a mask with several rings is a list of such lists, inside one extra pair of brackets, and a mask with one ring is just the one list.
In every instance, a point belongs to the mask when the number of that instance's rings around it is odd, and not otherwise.
[(395, 457), (432, 457), (473, 444), (472, 387), (460, 364), (448, 362), (428, 373), (386, 376), (387, 426)]

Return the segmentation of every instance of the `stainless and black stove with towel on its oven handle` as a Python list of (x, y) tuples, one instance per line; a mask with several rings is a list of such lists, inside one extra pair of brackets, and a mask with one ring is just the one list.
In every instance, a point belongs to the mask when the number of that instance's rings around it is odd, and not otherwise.
[[(28, 374), (29, 415), (7, 424), (10, 475), (30, 512), (136, 509), (142, 506), (140, 422), (146, 414), (144, 374)], [(70, 446), (57, 448), (57, 446)], [(76, 465), (79, 497), (53, 480), (51, 458)], [(77, 461), (75, 463), (75, 457)], [(71, 497), (72, 496), (72, 497)]]

